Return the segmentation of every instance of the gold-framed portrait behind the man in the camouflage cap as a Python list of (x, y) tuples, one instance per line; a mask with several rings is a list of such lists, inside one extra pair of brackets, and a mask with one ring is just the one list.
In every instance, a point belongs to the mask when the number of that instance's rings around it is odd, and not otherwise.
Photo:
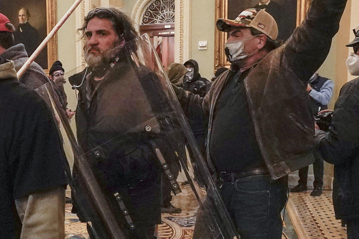
[[(278, 25), (277, 40), (285, 41), (302, 22), (310, 0), (216, 0), (215, 19), (235, 19), (248, 8), (260, 8), (271, 13)], [(215, 30), (214, 70), (229, 67), (225, 55), (227, 33)]]

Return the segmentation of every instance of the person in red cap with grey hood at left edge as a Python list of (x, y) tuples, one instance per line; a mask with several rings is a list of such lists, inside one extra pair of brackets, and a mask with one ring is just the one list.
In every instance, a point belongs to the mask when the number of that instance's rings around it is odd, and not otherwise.
[[(29, 59), (28, 54), (26, 53), (24, 44), (14, 45), (15, 28), (10, 20), (1, 13), (0, 22), (2, 24), (0, 28), (0, 57), (14, 61), (15, 70), (18, 71)], [(7, 27), (5, 27), (5, 23)], [(41, 85), (48, 83), (49, 78), (43, 69), (33, 61), (25, 73), (20, 76), (19, 81), (31, 89), (37, 89)]]

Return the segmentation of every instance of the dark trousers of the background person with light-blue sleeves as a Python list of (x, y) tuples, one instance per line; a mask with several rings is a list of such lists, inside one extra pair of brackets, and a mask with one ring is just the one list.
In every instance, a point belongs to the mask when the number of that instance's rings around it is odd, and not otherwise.
[[(314, 173), (314, 182), (313, 186), (316, 187), (323, 187), (323, 174), (324, 174), (324, 161), (322, 155), (318, 150), (314, 151), (314, 158), (315, 161), (313, 163), (313, 173)], [(306, 186), (308, 181), (308, 168), (306, 166), (299, 170), (299, 181), (298, 184)]]

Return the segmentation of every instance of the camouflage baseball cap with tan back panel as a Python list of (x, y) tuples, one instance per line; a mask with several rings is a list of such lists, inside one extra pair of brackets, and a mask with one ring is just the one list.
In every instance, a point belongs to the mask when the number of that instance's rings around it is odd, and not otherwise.
[(234, 20), (219, 18), (216, 26), (222, 32), (229, 32), (231, 27), (245, 27), (257, 29), (272, 40), (277, 39), (278, 36), (276, 20), (264, 9), (246, 9)]

